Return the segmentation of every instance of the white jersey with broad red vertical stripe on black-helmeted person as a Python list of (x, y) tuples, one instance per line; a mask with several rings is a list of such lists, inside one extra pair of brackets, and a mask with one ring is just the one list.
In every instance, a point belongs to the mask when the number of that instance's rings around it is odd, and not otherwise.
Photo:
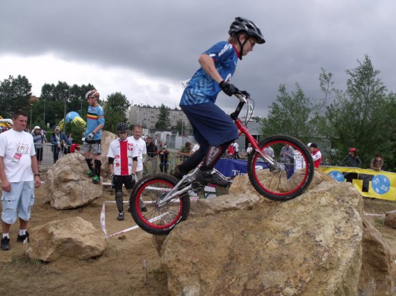
[(122, 141), (115, 139), (108, 147), (108, 157), (114, 158), (113, 171), (114, 175), (131, 175), (133, 166), (133, 157), (138, 157), (139, 149), (129, 138)]

